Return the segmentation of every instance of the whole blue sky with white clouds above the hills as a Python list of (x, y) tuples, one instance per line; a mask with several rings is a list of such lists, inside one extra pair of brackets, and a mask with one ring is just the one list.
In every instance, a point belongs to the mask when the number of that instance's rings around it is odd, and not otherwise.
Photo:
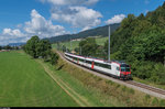
[(0, 0), (0, 45), (78, 33), (146, 14), (165, 0)]

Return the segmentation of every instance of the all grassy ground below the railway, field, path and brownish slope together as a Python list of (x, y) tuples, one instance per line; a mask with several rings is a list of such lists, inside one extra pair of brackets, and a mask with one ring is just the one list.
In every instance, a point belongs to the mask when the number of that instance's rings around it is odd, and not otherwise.
[(144, 107), (165, 100), (102, 79), (59, 58), (56, 66), (24, 52), (0, 53), (0, 107)]

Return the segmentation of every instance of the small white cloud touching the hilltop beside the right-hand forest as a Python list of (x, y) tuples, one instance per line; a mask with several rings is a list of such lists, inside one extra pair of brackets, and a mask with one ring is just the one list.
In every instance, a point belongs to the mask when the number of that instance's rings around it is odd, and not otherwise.
[(113, 18), (109, 19), (105, 23), (106, 24), (120, 23), (124, 18), (125, 18), (124, 14), (118, 14), (118, 15), (114, 15)]

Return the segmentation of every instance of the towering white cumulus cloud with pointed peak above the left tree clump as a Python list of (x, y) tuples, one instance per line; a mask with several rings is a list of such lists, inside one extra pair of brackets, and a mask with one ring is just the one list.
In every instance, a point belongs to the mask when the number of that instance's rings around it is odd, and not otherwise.
[(24, 31), (29, 34), (38, 35), (42, 39), (66, 33), (64, 26), (53, 25), (52, 21), (45, 20), (36, 10), (32, 10), (31, 21), (25, 22)]

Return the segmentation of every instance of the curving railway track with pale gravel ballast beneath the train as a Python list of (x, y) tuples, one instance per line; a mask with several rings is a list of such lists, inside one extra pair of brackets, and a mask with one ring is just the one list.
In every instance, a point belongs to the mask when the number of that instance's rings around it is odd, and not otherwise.
[[(64, 56), (63, 53), (61, 52), (57, 52), (65, 61), (67, 61)], [(84, 68), (81, 66), (78, 66), (69, 61), (67, 61), (68, 63), (77, 66), (77, 67), (80, 67), (80, 68)], [(112, 81), (116, 81), (118, 84), (122, 84), (122, 85), (125, 85), (130, 88), (134, 88), (134, 89), (138, 89), (140, 91), (143, 91), (145, 94), (148, 94), (148, 95), (152, 95), (152, 96), (155, 96), (155, 97), (158, 97), (158, 98), (162, 98), (162, 99), (165, 99), (165, 90), (164, 89), (160, 89), (160, 88), (156, 88), (156, 87), (153, 87), (153, 86), (148, 86), (148, 85), (145, 85), (145, 84), (141, 84), (141, 83), (138, 83), (138, 81), (134, 81), (134, 80), (120, 80), (120, 79), (114, 79), (110, 76), (107, 76), (107, 75), (103, 75), (103, 74), (100, 74), (98, 72), (94, 72), (94, 70), (89, 70), (87, 68), (84, 68), (85, 70), (87, 72), (90, 72), (91, 74), (95, 74), (97, 76), (100, 76), (100, 77), (103, 77), (106, 79), (110, 79)]]

